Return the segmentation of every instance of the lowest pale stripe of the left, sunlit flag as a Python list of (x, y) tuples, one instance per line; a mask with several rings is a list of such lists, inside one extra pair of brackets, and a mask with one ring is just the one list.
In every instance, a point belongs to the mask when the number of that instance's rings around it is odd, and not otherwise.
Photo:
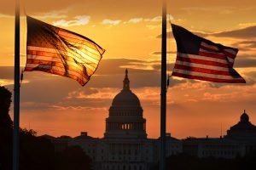
[[(57, 66), (51, 66), (51, 65), (39, 65), (39, 64), (26, 64), (26, 68), (42, 68), (42, 69), (47, 69), (47, 70), (53, 70), (53, 71), (61, 71), (61, 72), (66, 72), (65, 69), (61, 68), (61, 67), (57, 67)], [(82, 75), (80, 75), (78, 72), (76, 71), (70, 71), (67, 70), (69, 74), (79, 77), (80, 79), (82, 79), (84, 82), (87, 82), (87, 79), (85, 79)]]

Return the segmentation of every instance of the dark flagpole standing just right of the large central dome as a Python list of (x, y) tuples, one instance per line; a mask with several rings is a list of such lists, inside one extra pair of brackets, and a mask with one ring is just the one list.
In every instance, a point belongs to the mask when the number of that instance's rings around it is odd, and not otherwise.
[(166, 170), (166, 0), (163, 0), (162, 8), (161, 51), (160, 170)]

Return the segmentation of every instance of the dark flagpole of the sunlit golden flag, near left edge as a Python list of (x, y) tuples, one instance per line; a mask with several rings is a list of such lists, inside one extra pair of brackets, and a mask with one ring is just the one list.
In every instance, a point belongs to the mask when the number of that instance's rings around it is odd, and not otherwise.
[(20, 0), (15, 1), (15, 101), (14, 101), (14, 139), (13, 170), (19, 170), (20, 156)]

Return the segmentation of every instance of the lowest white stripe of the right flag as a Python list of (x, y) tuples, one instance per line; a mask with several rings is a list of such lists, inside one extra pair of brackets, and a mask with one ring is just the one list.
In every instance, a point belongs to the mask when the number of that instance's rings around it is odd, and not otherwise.
[(231, 77), (231, 76), (224, 76), (224, 75), (214, 75), (214, 74), (208, 74), (208, 73), (202, 73), (202, 72), (195, 72), (195, 71), (184, 71), (180, 69), (173, 69), (173, 72), (177, 72), (180, 74), (185, 75), (191, 75), (196, 77), (208, 77), (208, 78), (218, 78), (223, 80), (243, 80), (241, 77)]

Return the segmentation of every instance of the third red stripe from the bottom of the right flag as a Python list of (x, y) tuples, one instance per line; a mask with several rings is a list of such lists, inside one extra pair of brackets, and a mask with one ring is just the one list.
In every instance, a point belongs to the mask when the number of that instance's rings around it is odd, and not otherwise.
[(218, 63), (215, 61), (207, 61), (207, 60), (203, 60), (203, 59), (190, 59), (190, 58), (184, 58), (184, 57), (177, 56), (177, 60), (186, 61), (189, 63), (202, 64), (202, 65), (214, 65), (214, 66), (221, 66), (221, 67), (225, 67), (225, 68), (230, 67), (230, 65), (227, 65), (224, 63)]

